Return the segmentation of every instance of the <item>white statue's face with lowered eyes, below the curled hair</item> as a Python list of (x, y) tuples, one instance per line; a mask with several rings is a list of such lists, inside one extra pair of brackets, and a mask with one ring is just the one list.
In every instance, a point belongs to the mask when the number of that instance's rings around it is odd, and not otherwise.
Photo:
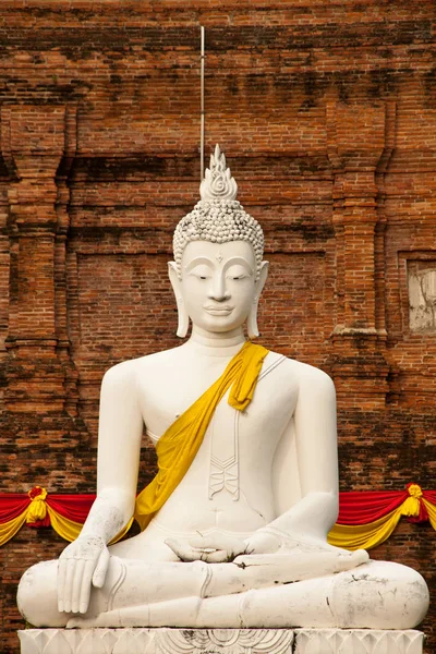
[(240, 327), (256, 301), (255, 266), (246, 241), (187, 243), (180, 292), (193, 325), (210, 332)]

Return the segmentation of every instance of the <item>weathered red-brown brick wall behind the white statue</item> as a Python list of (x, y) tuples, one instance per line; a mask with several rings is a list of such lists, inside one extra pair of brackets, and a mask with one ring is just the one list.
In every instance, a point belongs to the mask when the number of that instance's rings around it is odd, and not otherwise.
[[(0, 3), (3, 491), (93, 492), (104, 371), (175, 344), (199, 24), (206, 150), (223, 147), (266, 232), (263, 342), (335, 377), (343, 489), (435, 487), (435, 17), (431, 0)], [(404, 522), (374, 556), (434, 588), (434, 541)], [(0, 550), (3, 654), (20, 574), (63, 545), (23, 529)]]

